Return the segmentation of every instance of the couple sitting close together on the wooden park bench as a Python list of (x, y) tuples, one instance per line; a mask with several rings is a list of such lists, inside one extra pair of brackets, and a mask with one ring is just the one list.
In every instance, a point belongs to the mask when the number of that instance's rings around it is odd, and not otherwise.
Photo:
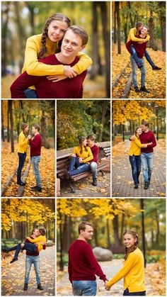
[(79, 138), (79, 146), (74, 147), (71, 154), (69, 169), (65, 170), (67, 179), (81, 172), (91, 170), (93, 176), (93, 186), (97, 186), (97, 166), (99, 147), (95, 145), (95, 136), (88, 135), (88, 137), (81, 136)]

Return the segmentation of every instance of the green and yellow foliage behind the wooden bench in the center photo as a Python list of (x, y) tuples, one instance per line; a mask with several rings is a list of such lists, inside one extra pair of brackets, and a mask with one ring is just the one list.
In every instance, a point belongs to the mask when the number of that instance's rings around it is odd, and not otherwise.
[(96, 135), (96, 142), (110, 141), (110, 101), (58, 100), (57, 150), (74, 147), (89, 134)]

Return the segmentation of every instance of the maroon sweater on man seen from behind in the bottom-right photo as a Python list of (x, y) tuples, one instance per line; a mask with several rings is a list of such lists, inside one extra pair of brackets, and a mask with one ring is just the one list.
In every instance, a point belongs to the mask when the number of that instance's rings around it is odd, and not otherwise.
[(75, 240), (69, 247), (69, 281), (95, 281), (96, 275), (106, 281), (106, 276), (94, 256), (91, 245)]

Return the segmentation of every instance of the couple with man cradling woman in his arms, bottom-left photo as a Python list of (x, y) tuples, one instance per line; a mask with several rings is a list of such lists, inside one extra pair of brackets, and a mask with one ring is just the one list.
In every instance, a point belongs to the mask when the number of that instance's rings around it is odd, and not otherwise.
[(25, 257), (25, 282), (24, 282), (24, 291), (28, 290), (29, 283), (29, 275), (32, 264), (34, 264), (36, 280), (38, 284), (38, 290), (42, 291), (43, 288), (41, 286), (40, 281), (40, 256), (39, 253), (41, 250), (46, 249), (46, 237), (45, 237), (45, 229), (34, 228), (32, 231), (32, 235), (30, 237), (26, 237), (24, 242), (19, 243), (15, 247), (9, 247), (2, 252), (8, 253), (16, 250), (13, 259), (10, 263), (13, 263), (18, 260), (18, 254), (21, 250), (26, 250)]

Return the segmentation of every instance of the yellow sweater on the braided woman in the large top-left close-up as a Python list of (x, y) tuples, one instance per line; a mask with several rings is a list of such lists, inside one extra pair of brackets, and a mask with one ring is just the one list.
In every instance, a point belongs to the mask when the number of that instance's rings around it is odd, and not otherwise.
[[(64, 74), (63, 65), (46, 65), (44, 63), (38, 62), (38, 52), (40, 52), (41, 36), (33, 35), (28, 38), (25, 46), (25, 61), (23, 65), (22, 72), (26, 72), (30, 75), (36, 75), (39, 77), (45, 75), (56, 75)], [(48, 38), (46, 40), (47, 56), (55, 54), (57, 50), (57, 43), (52, 43)], [(77, 57), (79, 57), (79, 62), (73, 66), (74, 69), (81, 74), (92, 64), (90, 57), (85, 55), (83, 52), (79, 52)]]

